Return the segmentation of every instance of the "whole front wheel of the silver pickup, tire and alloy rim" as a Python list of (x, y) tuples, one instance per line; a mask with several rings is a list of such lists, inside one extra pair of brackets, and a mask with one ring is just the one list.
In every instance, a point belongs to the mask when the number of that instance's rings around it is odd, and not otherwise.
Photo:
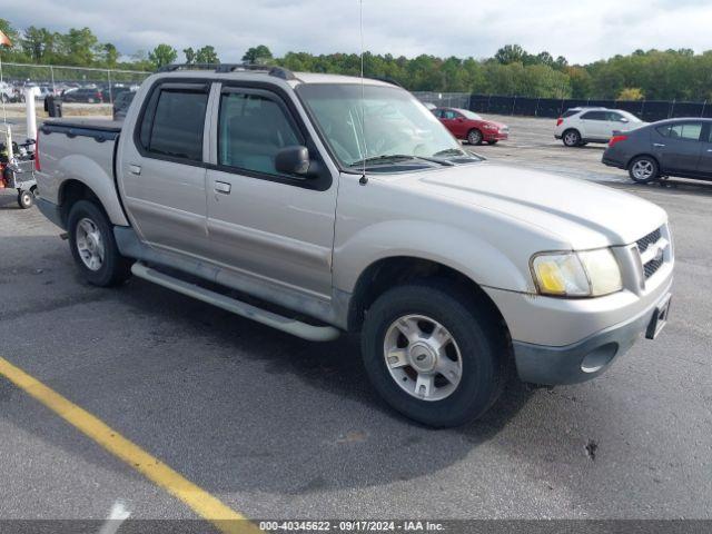
[(434, 427), (483, 415), (505, 378), (498, 326), (444, 284), (383, 294), (368, 309), (362, 353), (368, 377), (396, 411)]

